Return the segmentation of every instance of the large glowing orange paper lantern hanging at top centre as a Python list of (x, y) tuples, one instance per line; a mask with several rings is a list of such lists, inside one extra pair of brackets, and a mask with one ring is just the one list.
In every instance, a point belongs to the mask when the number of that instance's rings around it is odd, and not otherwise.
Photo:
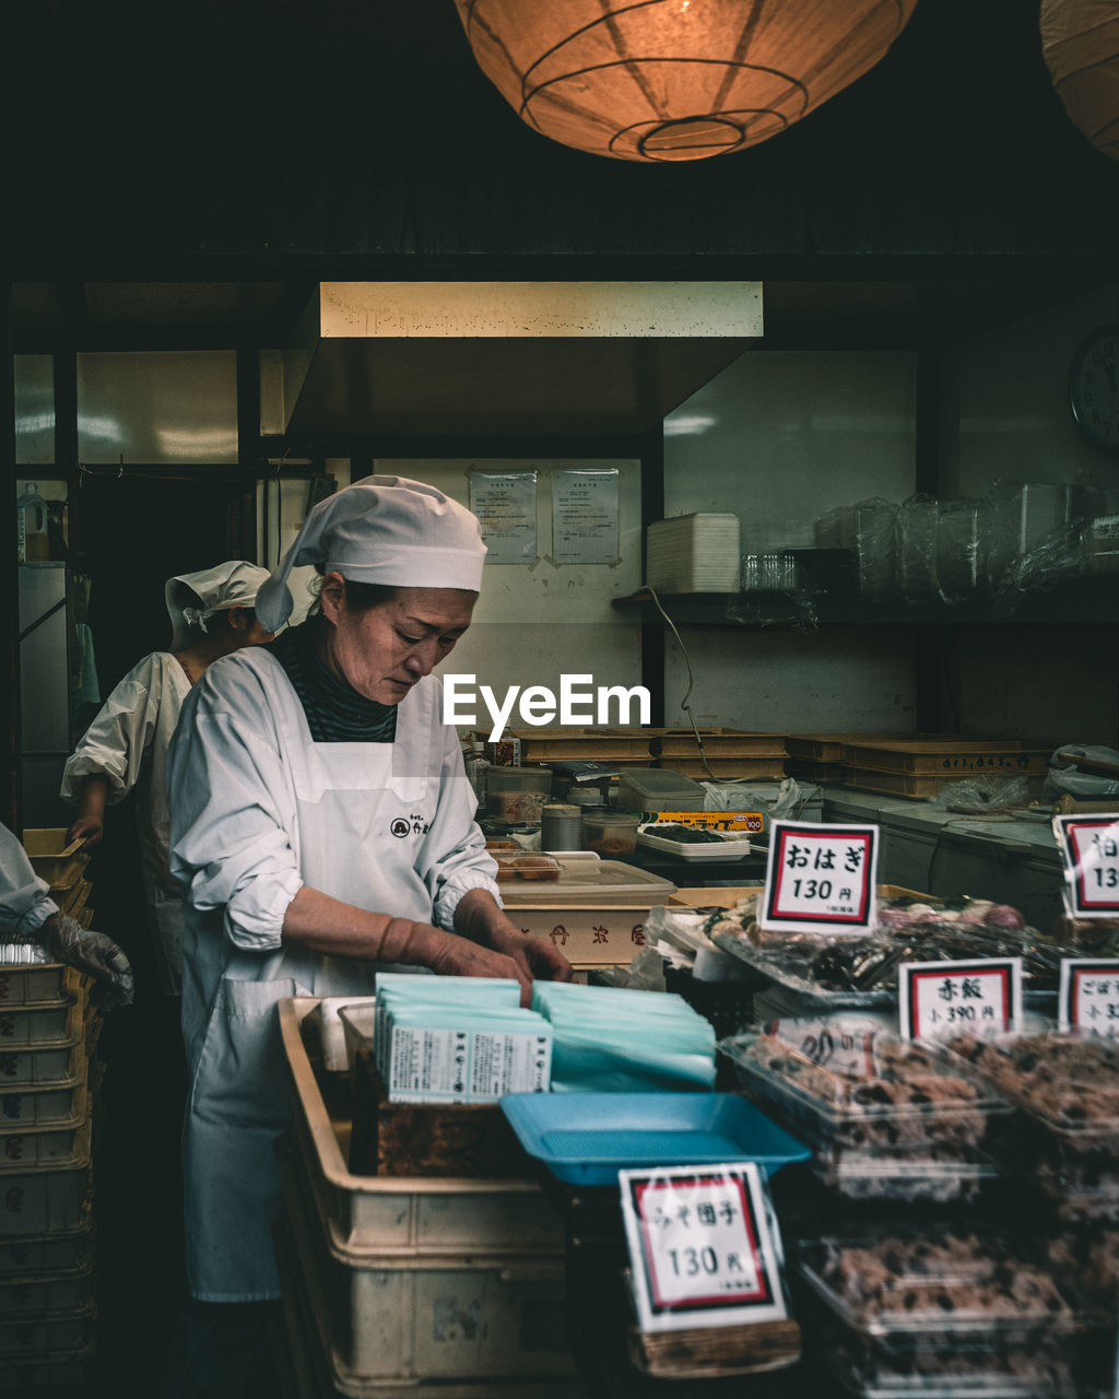
[(871, 69), (916, 0), (455, 0), (516, 113), (564, 145), (695, 161), (786, 130)]

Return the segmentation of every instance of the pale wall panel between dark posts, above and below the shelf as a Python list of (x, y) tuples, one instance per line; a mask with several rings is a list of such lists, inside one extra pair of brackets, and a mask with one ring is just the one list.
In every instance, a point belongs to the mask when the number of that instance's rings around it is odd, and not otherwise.
[[(664, 422), (664, 513), (733, 511), (743, 550), (804, 546), (835, 505), (913, 490), (915, 360), (751, 350)], [(691, 708), (772, 732), (916, 726), (913, 639), (897, 628), (681, 628)], [(669, 725), (687, 667), (666, 645)]]

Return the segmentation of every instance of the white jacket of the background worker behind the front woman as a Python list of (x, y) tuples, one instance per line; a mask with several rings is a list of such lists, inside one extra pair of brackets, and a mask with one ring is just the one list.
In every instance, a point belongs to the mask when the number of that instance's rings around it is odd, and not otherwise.
[(62, 796), (77, 802), (87, 776), (109, 782), (112, 806), (136, 788), (140, 877), (155, 960), (165, 992), (182, 979), (182, 891), (168, 869), (171, 818), (166, 807), (166, 748), (190, 681), (166, 651), (144, 656), (124, 676), (67, 760)]

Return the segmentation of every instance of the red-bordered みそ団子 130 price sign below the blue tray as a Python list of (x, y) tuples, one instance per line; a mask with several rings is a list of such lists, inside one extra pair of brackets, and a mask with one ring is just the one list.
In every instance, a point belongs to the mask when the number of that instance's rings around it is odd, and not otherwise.
[(618, 1171), (641, 1330), (787, 1315), (783, 1255), (755, 1161)]

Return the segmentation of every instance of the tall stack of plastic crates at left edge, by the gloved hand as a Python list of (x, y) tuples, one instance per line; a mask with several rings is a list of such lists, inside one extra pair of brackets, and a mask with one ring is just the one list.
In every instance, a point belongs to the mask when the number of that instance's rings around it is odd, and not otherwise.
[[(50, 853), (60, 834), (29, 831), (25, 846), (55, 901), (88, 925), (85, 859)], [(0, 964), (0, 1391), (80, 1384), (94, 1351), (99, 1027), (74, 968)]]

